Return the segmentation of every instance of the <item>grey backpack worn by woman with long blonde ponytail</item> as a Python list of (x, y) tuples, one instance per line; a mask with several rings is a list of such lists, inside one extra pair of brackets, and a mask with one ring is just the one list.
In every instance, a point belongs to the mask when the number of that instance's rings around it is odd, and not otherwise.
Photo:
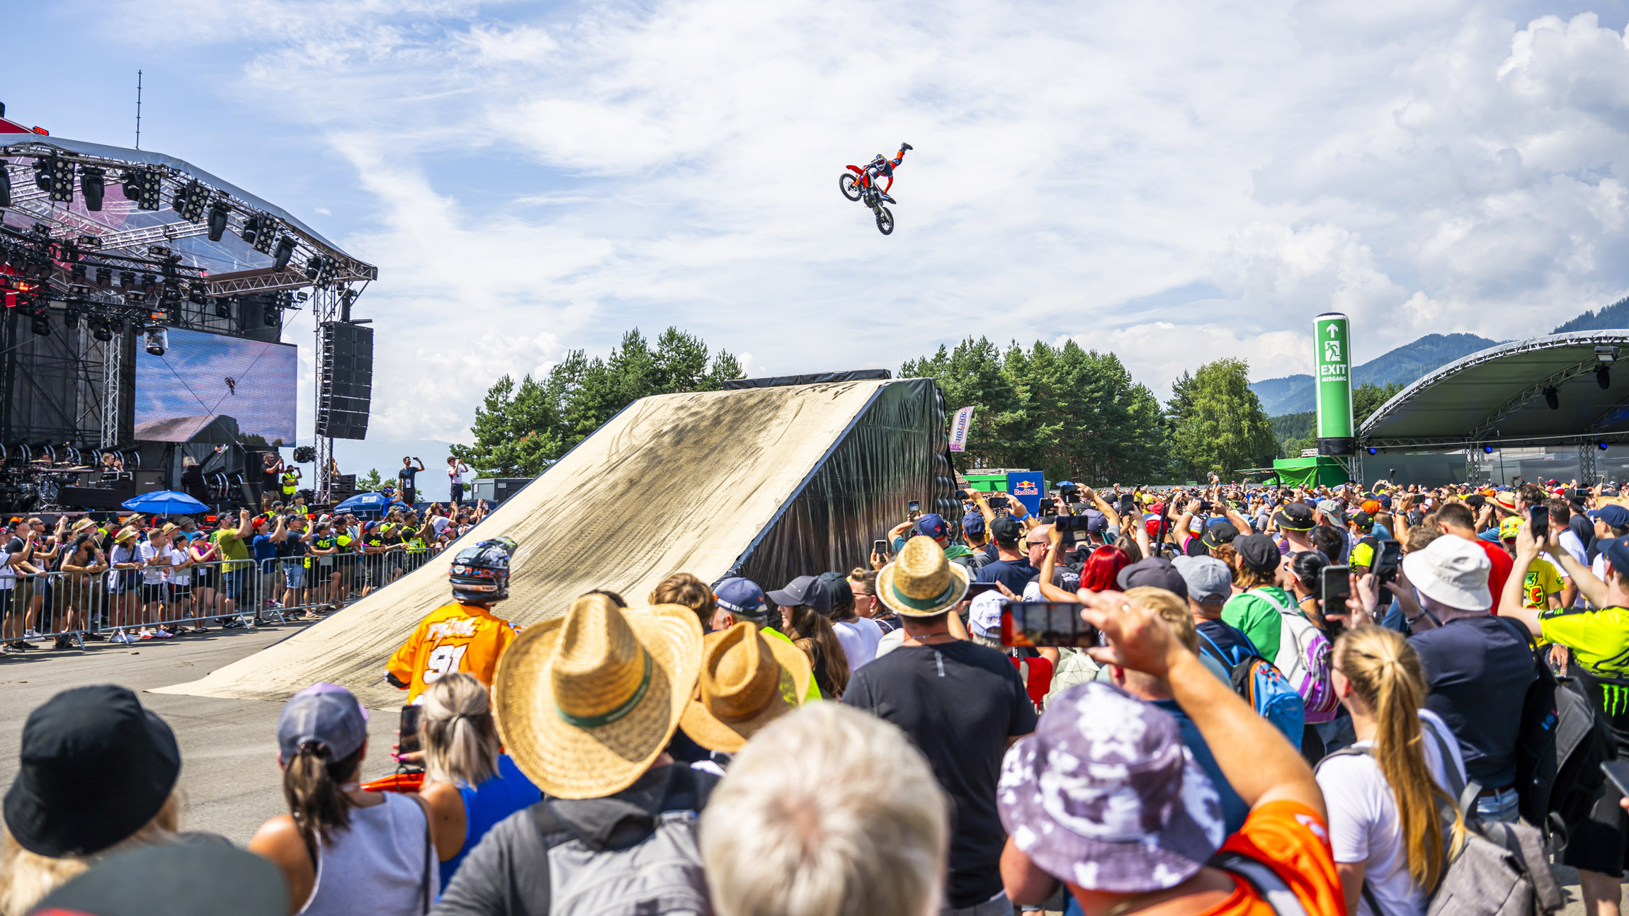
[[(1420, 722), (1420, 732), (1429, 734), (1442, 755), (1448, 774), (1447, 791), (1453, 804), (1440, 807), (1447, 861), (1437, 890), (1432, 892), (1425, 916), (1544, 916), (1561, 909), (1561, 885), (1549, 869), (1544, 853), (1544, 835), (1526, 823), (1500, 823), (1476, 817), (1476, 796), (1482, 786), (1461, 781), (1453, 768), (1453, 753), (1435, 726)], [(1370, 755), (1373, 748), (1341, 748), (1331, 757)], [(1323, 766), (1323, 760), (1318, 761)], [(1455, 813), (1464, 823), (1464, 838), (1453, 849)], [(1368, 882), (1363, 882), (1363, 900), (1373, 913), (1385, 913)]]

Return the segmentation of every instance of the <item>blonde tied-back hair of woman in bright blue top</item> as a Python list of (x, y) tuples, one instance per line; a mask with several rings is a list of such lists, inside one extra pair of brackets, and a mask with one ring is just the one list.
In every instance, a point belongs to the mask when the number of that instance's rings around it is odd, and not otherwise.
[(420, 700), (425, 781), (472, 787), (495, 776), (498, 727), (485, 685), (474, 675), (454, 672), (432, 683)]

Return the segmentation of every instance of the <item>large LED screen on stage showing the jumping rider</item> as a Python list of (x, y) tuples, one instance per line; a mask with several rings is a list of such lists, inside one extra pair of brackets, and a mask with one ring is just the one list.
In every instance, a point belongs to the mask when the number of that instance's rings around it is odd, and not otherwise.
[(137, 439), (184, 443), (230, 417), (244, 439), (293, 444), (295, 345), (181, 329), (168, 335), (163, 356), (153, 356), (143, 338), (135, 338)]

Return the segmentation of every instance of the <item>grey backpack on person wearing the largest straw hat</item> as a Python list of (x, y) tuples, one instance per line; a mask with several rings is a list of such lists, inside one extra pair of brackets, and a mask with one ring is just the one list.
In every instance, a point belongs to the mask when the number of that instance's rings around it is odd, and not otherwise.
[(595, 799), (627, 809), (599, 844), (578, 836), (551, 807), (528, 809), (549, 849), (551, 916), (712, 916), (712, 898), (697, 848), (697, 812), (715, 779), (676, 766), (674, 809), (650, 813), (621, 799)]

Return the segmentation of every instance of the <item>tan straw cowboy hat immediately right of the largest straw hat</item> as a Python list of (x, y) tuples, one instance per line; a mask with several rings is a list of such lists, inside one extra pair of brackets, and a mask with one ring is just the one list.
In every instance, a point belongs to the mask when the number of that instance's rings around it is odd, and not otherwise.
[(707, 750), (735, 753), (757, 729), (795, 709), (808, 690), (803, 649), (736, 623), (702, 638), (700, 677), (679, 724)]

